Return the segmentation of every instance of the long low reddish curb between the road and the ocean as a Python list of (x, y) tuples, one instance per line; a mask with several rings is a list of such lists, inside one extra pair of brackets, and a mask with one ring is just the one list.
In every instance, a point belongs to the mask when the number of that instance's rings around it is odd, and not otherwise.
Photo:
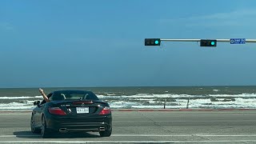
[[(131, 112), (131, 111), (242, 111), (242, 110), (256, 110), (256, 109), (112, 109), (111, 111), (122, 111), (122, 112)], [(0, 110), (0, 113), (31, 113), (32, 110)]]

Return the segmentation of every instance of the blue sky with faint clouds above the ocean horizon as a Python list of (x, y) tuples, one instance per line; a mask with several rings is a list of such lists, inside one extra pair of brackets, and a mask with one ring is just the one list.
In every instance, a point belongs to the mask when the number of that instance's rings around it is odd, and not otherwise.
[(0, 1), (0, 88), (256, 86), (256, 1)]

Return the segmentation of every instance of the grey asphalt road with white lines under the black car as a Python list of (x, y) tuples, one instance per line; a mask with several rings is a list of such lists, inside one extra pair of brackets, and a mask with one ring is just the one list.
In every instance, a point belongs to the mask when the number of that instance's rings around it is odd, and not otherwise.
[(30, 113), (0, 112), (0, 143), (256, 143), (256, 110), (114, 111), (113, 133), (30, 132)]

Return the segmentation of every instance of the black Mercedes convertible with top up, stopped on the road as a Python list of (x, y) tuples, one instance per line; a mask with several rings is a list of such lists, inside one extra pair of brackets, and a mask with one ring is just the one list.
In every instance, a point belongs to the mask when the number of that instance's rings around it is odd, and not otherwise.
[(112, 115), (107, 102), (91, 91), (58, 90), (47, 95), (50, 102), (34, 102), (30, 126), (33, 133), (50, 137), (54, 132), (93, 131), (102, 137), (112, 133)]

